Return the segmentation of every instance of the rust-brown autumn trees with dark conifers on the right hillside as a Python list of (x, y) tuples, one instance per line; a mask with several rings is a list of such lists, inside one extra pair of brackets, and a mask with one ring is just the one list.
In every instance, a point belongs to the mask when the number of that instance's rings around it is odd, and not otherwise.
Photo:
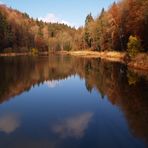
[(83, 36), (85, 47), (92, 50), (148, 51), (148, 0), (114, 2), (96, 19), (89, 14)]

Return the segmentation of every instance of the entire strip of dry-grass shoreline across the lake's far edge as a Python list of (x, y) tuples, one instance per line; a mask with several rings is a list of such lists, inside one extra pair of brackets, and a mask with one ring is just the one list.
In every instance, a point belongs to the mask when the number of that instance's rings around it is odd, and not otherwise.
[[(85, 58), (100, 58), (112, 62), (121, 62), (126, 64), (129, 68), (135, 70), (148, 71), (148, 53), (138, 53), (135, 57), (129, 59), (127, 52), (117, 51), (91, 51), (91, 50), (79, 50), (79, 51), (59, 51), (59, 52), (40, 52), (36, 55), (47, 56), (49, 54), (61, 54), (71, 55)], [(7, 56), (28, 56), (34, 55), (32, 53), (0, 53), (0, 57)]]

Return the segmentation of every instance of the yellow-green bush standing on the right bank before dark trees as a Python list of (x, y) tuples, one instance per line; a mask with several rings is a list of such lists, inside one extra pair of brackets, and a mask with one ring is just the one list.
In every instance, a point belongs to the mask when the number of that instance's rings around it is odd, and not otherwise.
[(128, 53), (130, 57), (135, 57), (141, 49), (141, 41), (136, 36), (130, 36), (128, 42)]

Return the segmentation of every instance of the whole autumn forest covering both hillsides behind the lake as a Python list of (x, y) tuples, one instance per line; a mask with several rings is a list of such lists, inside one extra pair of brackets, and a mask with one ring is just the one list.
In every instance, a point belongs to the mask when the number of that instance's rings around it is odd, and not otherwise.
[(78, 29), (0, 5), (0, 52), (148, 51), (148, 0), (121, 0)]

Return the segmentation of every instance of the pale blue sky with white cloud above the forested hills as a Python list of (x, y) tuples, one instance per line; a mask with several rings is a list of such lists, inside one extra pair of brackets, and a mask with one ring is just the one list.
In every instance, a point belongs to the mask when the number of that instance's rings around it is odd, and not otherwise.
[(9, 7), (27, 12), (33, 18), (82, 26), (90, 12), (96, 17), (101, 9), (117, 0), (0, 0)]

